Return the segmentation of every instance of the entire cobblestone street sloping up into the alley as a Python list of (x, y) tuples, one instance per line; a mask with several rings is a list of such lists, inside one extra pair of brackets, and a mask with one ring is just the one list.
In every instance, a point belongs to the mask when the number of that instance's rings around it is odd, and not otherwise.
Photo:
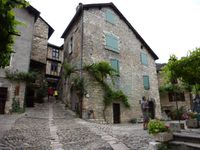
[(0, 150), (145, 150), (150, 141), (141, 124), (88, 122), (76, 118), (60, 103), (28, 108), (10, 130), (0, 133)]

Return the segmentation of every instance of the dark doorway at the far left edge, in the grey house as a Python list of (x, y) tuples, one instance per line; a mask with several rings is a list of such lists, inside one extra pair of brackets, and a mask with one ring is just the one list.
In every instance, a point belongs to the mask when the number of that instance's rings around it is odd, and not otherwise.
[(0, 87), (0, 114), (5, 113), (5, 105), (7, 100), (7, 88)]

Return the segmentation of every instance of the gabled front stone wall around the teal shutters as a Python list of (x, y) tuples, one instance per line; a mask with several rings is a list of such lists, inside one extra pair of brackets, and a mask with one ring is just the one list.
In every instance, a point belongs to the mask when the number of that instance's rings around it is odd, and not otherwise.
[[(132, 118), (142, 116), (139, 100), (142, 96), (154, 98), (156, 103), (156, 117), (161, 117), (160, 98), (158, 92), (158, 81), (156, 74), (155, 60), (148, 50), (137, 39), (127, 24), (120, 19), (117, 14), (116, 24), (113, 25), (105, 20), (105, 12), (109, 8), (89, 9), (84, 11), (84, 50), (83, 63), (91, 64), (99, 61), (108, 61), (118, 59), (120, 63), (120, 89), (128, 96), (131, 109), (121, 106), (121, 122), (127, 122)], [(98, 24), (96, 24), (98, 22)], [(105, 33), (111, 33), (119, 38), (120, 52), (116, 53), (105, 49)], [(148, 66), (144, 66), (140, 61), (140, 53), (148, 55)], [(149, 75), (150, 89), (144, 90), (143, 75)], [(90, 98), (85, 100), (85, 106), (93, 101), (98, 101), (102, 97), (102, 91), (98, 87), (88, 86)], [(95, 92), (93, 92), (95, 91)], [(95, 103), (93, 108), (97, 108), (96, 113), (102, 112), (99, 103)], [(112, 122), (112, 106), (108, 108), (107, 116), (110, 116)]]

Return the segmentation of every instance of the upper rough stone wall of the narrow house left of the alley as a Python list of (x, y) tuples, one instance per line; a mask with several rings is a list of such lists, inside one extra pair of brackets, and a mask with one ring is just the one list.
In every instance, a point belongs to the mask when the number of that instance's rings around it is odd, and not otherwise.
[(46, 64), (49, 26), (40, 17), (35, 23), (31, 59)]

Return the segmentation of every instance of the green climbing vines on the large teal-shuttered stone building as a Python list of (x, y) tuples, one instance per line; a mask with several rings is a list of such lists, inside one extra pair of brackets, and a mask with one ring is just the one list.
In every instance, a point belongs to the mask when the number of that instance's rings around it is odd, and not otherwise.
[[(63, 68), (65, 78), (69, 78), (72, 73), (78, 71), (78, 69), (75, 69), (75, 67), (72, 67), (69, 63), (66, 62), (64, 63)], [(111, 80), (113, 79), (113, 77), (119, 76), (118, 72), (114, 70), (108, 62), (101, 61), (92, 65), (86, 65), (83, 70), (89, 72), (100, 83), (104, 90), (103, 115), (105, 120), (106, 108), (114, 101), (121, 101), (125, 107), (130, 108), (127, 96), (121, 90), (114, 91), (105, 81), (108, 76), (111, 78)], [(77, 91), (77, 94), (79, 95), (79, 99), (81, 101), (85, 93), (84, 78), (74, 78), (72, 80), (72, 83), (72, 88)]]

